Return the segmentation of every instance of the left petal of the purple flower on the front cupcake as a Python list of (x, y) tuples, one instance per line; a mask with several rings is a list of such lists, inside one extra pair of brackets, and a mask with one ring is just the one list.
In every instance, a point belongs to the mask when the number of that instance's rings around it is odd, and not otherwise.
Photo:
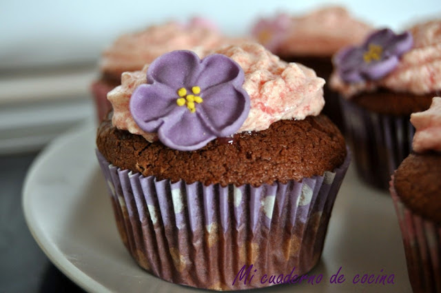
[(187, 107), (176, 104), (176, 91), (162, 83), (142, 84), (130, 98), (130, 112), (145, 132), (156, 132), (170, 117), (181, 117)]

